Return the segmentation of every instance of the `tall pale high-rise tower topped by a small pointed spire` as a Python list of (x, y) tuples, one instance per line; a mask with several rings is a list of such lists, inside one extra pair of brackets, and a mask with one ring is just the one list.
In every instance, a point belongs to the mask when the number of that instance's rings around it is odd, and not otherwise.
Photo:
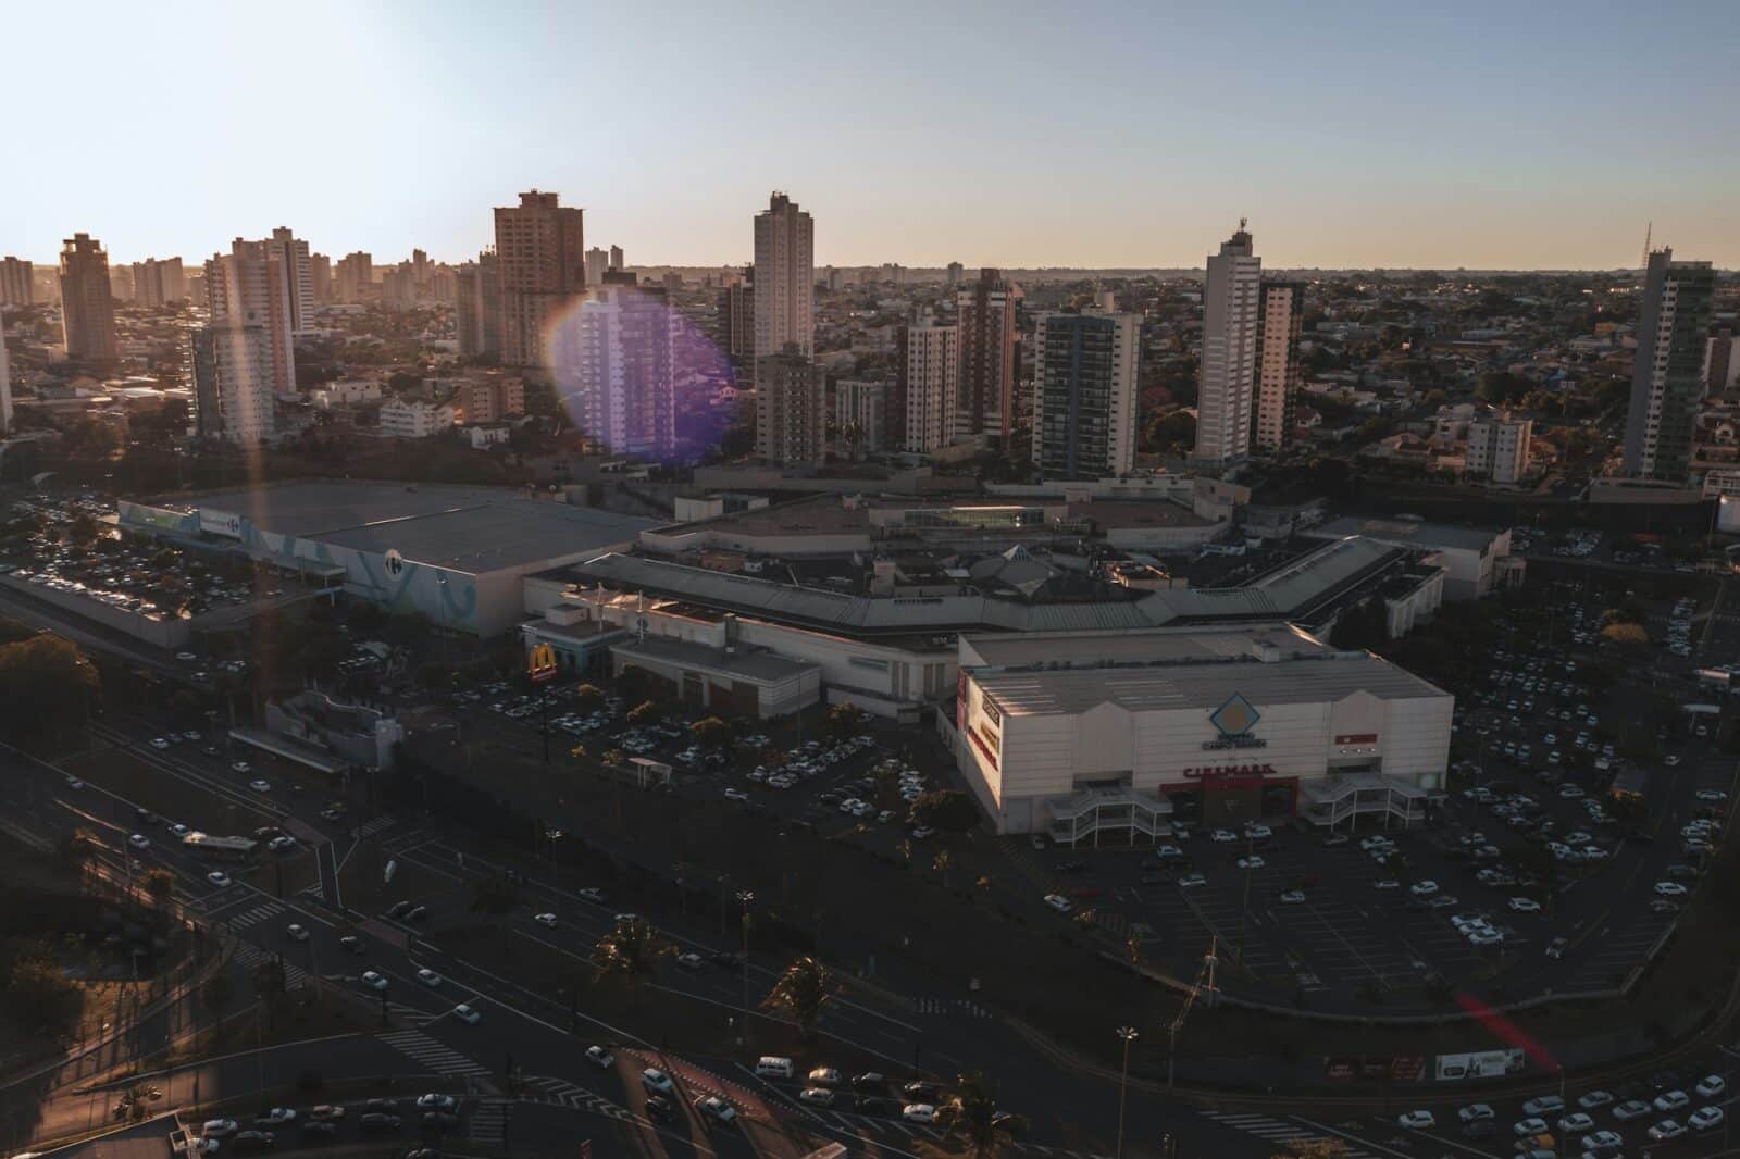
[(1263, 259), (1251, 235), (1239, 231), (1208, 259), (1202, 285), (1202, 369), (1197, 390), (1195, 459), (1234, 463), (1251, 449), (1251, 400), (1256, 383), (1256, 322)]

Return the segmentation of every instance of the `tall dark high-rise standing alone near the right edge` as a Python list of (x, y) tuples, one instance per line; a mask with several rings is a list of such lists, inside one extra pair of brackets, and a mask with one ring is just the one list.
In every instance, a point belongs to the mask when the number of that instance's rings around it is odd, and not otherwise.
[(1703, 395), (1703, 338), (1710, 325), (1716, 270), (1650, 252), (1637, 310), (1637, 360), (1625, 416), (1625, 473), (1684, 482)]

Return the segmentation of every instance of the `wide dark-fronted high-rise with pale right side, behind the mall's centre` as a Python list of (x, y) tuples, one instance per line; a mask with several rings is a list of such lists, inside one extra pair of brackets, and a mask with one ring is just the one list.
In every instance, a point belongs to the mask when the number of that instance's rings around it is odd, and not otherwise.
[(1034, 463), (1047, 480), (1108, 479), (1136, 463), (1141, 318), (1042, 313), (1034, 334)]

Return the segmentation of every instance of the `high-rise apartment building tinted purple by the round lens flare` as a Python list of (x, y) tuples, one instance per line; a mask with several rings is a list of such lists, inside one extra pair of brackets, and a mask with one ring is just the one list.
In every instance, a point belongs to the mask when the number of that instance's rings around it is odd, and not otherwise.
[(607, 452), (675, 454), (677, 318), (661, 289), (599, 285), (550, 336), (562, 407)]

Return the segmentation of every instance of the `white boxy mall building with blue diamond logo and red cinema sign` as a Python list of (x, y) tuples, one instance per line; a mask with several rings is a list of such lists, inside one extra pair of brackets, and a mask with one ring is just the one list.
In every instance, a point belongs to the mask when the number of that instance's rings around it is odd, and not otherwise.
[(1378, 828), (1444, 790), (1451, 694), (1284, 625), (962, 635), (959, 672), (940, 729), (1000, 834)]

